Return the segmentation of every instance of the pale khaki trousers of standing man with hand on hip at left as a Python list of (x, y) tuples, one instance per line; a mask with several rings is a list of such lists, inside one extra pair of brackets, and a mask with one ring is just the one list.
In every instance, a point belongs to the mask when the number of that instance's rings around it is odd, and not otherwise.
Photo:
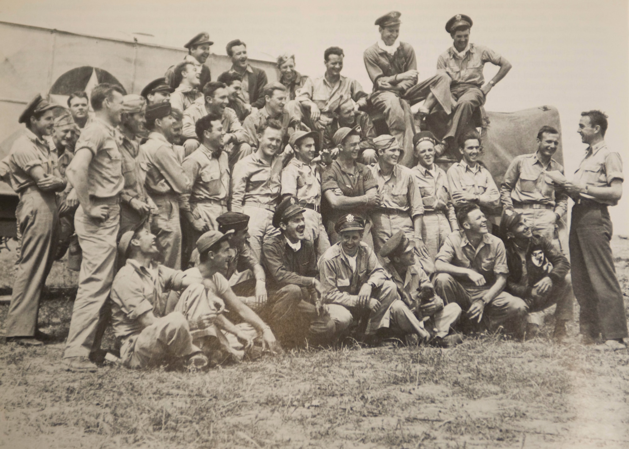
[(74, 300), (70, 331), (64, 357), (87, 357), (94, 348), (94, 338), (101, 309), (109, 297), (116, 263), (116, 237), (120, 228), (118, 198), (104, 199), (109, 217), (105, 221), (89, 218), (82, 206), (74, 216), (74, 228), (83, 252), (79, 271), (79, 289)]

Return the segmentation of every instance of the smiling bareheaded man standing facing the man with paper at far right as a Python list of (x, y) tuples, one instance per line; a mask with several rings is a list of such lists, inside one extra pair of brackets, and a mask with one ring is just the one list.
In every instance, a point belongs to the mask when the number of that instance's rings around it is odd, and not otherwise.
[(537, 152), (515, 157), (500, 186), (504, 209), (522, 214), (534, 234), (552, 241), (557, 248), (556, 230), (568, 207), (564, 167), (552, 158), (558, 147), (559, 131), (542, 126), (537, 133)]

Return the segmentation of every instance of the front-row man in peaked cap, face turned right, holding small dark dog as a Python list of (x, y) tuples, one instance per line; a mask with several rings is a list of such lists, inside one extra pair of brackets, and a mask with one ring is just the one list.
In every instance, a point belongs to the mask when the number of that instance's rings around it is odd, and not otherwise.
[[(460, 336), (450, 333), (450, 326), (461, 315), (459, 304), (451, 302), (443, 305), (443, 299), (435, 294), (433, 284), (423, 266), (415, 257), (415, 241), (409, 240), (404, 231), (398, 231), (382, 245), (380, 255), (384, 270), (398, 287), (398, 294), (420, 322), (428, 324), (430, 340), (428, 344), (447, 348), (460, 343)], [(388, 262), (386, 262), (388, 258)]]

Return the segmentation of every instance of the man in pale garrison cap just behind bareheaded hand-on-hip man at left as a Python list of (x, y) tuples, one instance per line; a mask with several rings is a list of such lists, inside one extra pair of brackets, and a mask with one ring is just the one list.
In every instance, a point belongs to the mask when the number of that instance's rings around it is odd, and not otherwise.
[(146, 136), (145, 126), (146, 101), (135, 94), (123, 97), (123, 113), (120, 119), (120, 133), (122, 143), (122, 172), (125, 177), (125, 187), (120, 192), (120, 231), (135, 230), (146, 222), (152, 212), (157, 213), (157, 206), (148, 196), (144, 188), (144, 173), (137, 160), (140, 153), (140, 138)]

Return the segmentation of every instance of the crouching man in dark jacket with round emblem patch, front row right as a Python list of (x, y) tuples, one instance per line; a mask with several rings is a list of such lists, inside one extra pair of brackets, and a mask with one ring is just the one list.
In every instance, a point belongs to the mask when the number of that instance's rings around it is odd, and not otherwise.
[(500, 221), (500, 235), (509, 266), (505, 291), (521, 297), (528, 306), (526, 338), (537, 335), (543, 310), (553, 304), (556, 340), (566, 336), (565, 322), (572, 319), (570, 262), (552, 241), (532, 233), (532, 224), (521, 213), (506, 210)]

